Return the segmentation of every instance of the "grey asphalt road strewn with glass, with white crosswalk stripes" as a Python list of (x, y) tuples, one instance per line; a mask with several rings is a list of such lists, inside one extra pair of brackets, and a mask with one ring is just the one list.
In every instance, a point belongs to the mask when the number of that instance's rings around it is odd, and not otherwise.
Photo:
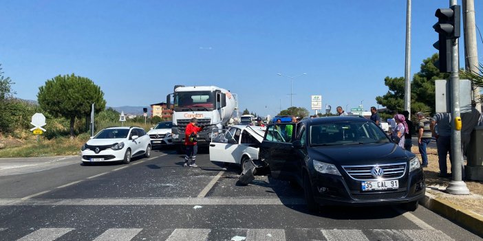
[(270, 176), (238, 186), (237, 167), (208, 154), (197, 155), (200, 168), (183, 168), (173, 150), (152, 154), (129, 165), (74, 157), (0, 172), (0, 240), (482, 240), (425, 207), (314, 214), (300, 189)]

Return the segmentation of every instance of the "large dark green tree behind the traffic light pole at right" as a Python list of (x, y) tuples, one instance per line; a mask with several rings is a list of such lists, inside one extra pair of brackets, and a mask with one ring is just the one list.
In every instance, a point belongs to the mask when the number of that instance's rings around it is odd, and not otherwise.
[[(449, 77), (448, 73), (440, 73), (433, 65), (438, 59), (438, 54), (422, 60), (421, 69), (415, 73), (411, 82), (411, 113), (422, 111), (433, 114), (436, 111), (435, 80), (444, 80)], [(389, 91), (383, 96), (377, 96), (376, 102), (386, 106), (390, 111), (404, 111), (405, 79), (403, 77), (384, 79)]]

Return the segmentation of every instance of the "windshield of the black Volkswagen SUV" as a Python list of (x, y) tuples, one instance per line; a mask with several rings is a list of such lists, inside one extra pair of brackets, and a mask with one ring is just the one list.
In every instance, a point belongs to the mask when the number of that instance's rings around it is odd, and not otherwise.
[(336, 122), (310, 126), (310, 146), (389, 143), (373, 122)]

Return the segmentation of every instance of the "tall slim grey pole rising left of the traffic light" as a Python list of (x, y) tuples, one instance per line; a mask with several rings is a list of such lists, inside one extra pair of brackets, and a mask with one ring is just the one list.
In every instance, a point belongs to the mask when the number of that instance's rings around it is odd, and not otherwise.
[(411, 0), (407, 0), (406, 8), (406, 64), (404, 78), (404, 108), (406, 111), (409, 111), (408, 119), (411, 119)]

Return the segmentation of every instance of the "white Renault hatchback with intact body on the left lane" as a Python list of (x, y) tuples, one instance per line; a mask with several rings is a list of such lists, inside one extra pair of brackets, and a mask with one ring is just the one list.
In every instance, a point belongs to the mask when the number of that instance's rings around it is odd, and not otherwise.
[(105, 128), (81, 148), (83, 163), (122, 161), (127, 164), (131, 157), (140, 155), (151, 156), (151, 141), (137, 126)]

